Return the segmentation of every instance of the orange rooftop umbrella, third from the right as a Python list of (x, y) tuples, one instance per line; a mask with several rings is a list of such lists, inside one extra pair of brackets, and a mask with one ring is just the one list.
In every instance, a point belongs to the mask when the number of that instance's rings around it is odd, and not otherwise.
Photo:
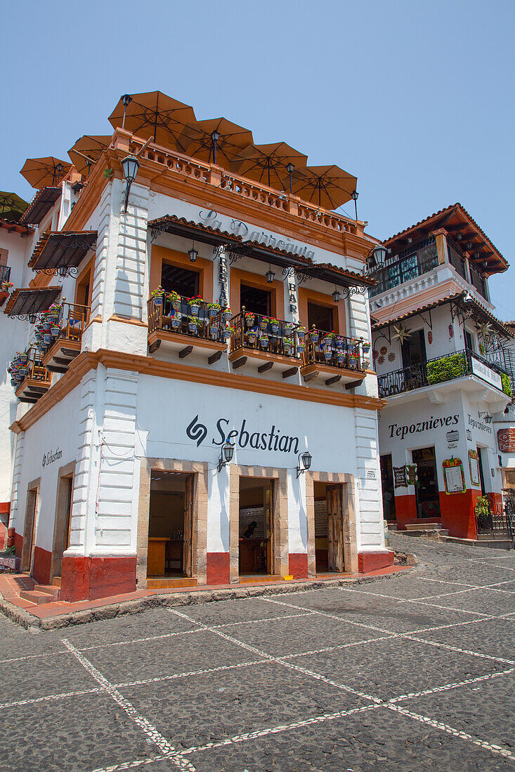
[(209, 118), (187, 126), (180, 141), (187, 155), (230, 168), (253, 137), (251, 130), (232, 124), (226, 118)]

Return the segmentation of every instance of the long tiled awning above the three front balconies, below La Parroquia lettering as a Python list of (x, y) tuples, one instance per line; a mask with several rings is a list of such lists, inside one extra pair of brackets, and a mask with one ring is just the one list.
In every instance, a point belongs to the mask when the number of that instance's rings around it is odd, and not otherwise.
[[(241, 236), (236, 236), (227, 231), (211, 228), (210, 225), (200, 225), (198, 222), (178, 218), (176, 215), (164, 215), (148, 222), (151, 229), (152, 241), (157, 235), (166, 232), (182, 236), (185, 239), (195, 239), (204, 244), (212, 244), (213, 247), (225, 245), (226, 253), (231, 263), (247, 256), (262, 262), (271, 263), (282, 268), (283, 276), (297, 276), (298, 283), (307, 279), (321, 279), (340, 287), (356, 287), (363, 289), (374, 286), (375, 279), (363, 276), (356, 271), (350, 271), (339, 266), (333, 266), (328, 262), (317, 263), (312, 259), (300, 256), (295, 252), (287, 252), (285, 249), (275, 249), (266, 244), (255, 241), (244, 241)], [(352, 293), (351, 293), (352, 294)]]

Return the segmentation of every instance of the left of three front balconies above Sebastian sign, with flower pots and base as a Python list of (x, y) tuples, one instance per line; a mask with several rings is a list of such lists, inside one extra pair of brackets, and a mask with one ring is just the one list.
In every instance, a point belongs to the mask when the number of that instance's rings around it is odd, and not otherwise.
[(227, 350), (229, 319), (230, 312), (224, 313), (217, 303), (201, 300), (192, 305), (179, 295), (152, 297), (148, 300), (148, 351), (154, 354), (163, 345), (183, 359), (196, 350), (209, 354), (207, 362), (213, 364)]

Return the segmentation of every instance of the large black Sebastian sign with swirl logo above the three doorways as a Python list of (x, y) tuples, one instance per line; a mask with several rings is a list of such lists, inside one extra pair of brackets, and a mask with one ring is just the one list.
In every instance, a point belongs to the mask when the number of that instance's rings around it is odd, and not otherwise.
[[(237, 445), (238, 448), (253, 448), (254, 450), (280, 451), (282, 453), (298, 453), (298, 437), (281, 435), (281, 432), (274, 424), (268, 432), (261, 432), (255, 426), (247, 426), (247, 419), (243, 418), (240, 428), (229, 429), (230, 420), (228, 418), (218, 418), (216, 429), (211, 438), (212, 445), (223, 445), (224, 442), (230, 442)], [(210, 432), (205, 424), (199, 421), (196, 415), (193, 421), (186, 427), (186, 437), (196, 442), (197, 448), (206, 439)]]

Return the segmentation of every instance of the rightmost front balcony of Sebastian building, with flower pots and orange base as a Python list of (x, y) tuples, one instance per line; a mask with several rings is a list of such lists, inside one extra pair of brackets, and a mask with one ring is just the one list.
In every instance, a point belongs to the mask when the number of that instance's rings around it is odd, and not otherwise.
[(301, 374), (304, 381), (322, 379), (326, 386), (342, 381), (353, 388), (366, 378), (370, 344), (312, 327), (305, 336)]

